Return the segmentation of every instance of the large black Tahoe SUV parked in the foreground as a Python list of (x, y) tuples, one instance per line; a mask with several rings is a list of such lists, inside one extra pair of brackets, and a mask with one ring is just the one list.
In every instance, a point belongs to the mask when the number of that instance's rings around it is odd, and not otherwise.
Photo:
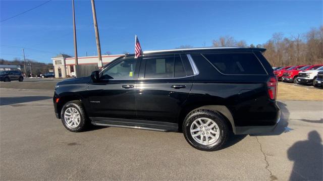
[(89, 77), (59, 82), (55, 113), (72, 132), (98, 126), (182, 131), (211, 151), (230, 133), (272, 131), (277, 79), (262, 48), (193, 48), (121, 56)]

